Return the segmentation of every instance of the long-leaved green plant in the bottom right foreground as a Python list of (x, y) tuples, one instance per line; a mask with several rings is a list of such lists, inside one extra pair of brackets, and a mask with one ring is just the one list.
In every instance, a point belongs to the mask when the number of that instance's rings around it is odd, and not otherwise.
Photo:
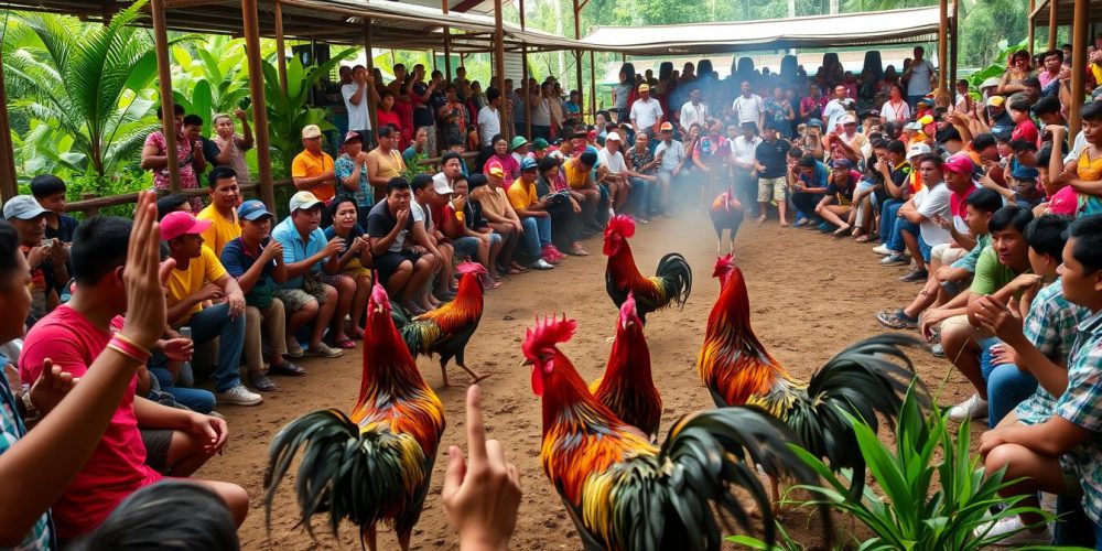
[[(1000, 496), (1012, 483), (1003, 480), (1003, 469), (984, 473), (979, 457), (969, 454), (969, 423), (961, 424), (954, 437), (944, 417), (921, 411), (914, 389), (899, 412), (895, 450), (880, 442), (868, 424), (858, 419), (853, 423), (861, 453), (884, 496), (865, 488), (860, 500), (851, 498), (849, 480), (796, 445), (796, 453), (825, 484), (793, 489), (814, 496), (800, 505), (828, 506), (864, 525), (874, 536), (861, 543), (862, 550), (979, 550), (1009, 536), (975, 537), (973, 530), (986, 522), (1020, 512), (1041, 515), (1046, 522), (1051, 519), (1047, 511), (1018, 506), (1023, 496)], [(988, 517), (997, 504), (1006, 508)]]

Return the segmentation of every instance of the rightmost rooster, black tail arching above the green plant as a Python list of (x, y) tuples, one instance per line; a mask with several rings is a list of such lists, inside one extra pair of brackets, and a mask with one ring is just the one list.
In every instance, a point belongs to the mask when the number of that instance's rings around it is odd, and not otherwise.
[[(865, 339), (831, 358), (804, 383), (769, 355), (750, 328), (746, 282), (732, 255), (716, 261), (713, 277), (720, 278), (722, 290), (707, 317), (696, 367), (715, 404), (760, 407), (787, 424), (800, 445), (828, 458), (833, 469), (852, 468), (851, 493), (860, 497), (865, 462), (849, 415), (875, 431), (877, 413), (886, 419), (898, 414), (901, 396), (917, 380), (901, 347), (918, 342), (898, 334)], [(926, 396), (921, 381), (918, 385)], [(777, 479), (768, 474), (777, 503)]]

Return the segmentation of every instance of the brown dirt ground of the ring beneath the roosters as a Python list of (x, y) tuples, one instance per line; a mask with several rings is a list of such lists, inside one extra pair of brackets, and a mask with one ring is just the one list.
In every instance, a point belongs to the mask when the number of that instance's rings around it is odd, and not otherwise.
[[(693, 214), (641, 225), (630, 245), (644, 273), (652, 273), (658, 259), (669, 251), (684, 255), (693, 268), (692, 295), (684, 310), (655, 313), (647, 324), (655, 379), (666, 406), (665, 434), (680, 415), (712, 407), (694, 361), (707, 314), (719, 294), (719, 283), (711, 278), (715, 237), (706, 216)], [(613, 335), (616, 309), (605, 293), (605, 257), (601, 255), (599, 238), (587, 241), (586, 248), (593, 253), (587, 258), (572, 257), (552, 271), (510, 278), (500, 289), (490, 291), (482, 326), (467, 347), (471, 366), (493, 374), (483, 382), (487, 432), (505, 443), (509, 460), (523, 473), (525, 495), (512, 549), (579, 545), (574, 527), (540, 467), (540, 400), (531, 392), (529, 369), (518, 366), (520, 342), (533, 315), (559, 311), (579, 321), (579, 334), (562, 349), (586, 380), (603, 371), (612, 346), (606, 338)], [(879, 257), (869, 249), (819, 231), (782, 229), (773, 220), (760, 227), (743, 226), (736, 257), (749, 287), (754, 328), (795, 376), (807, 379), (845, 345), (879, 333), (874, 313), (901, 306), (918, 292), (917, 284), (896, 281), (904, 269), (880, 267)], [(946, 360), (927, 352), (916, 350), (911, 356), (931, 390), (951, 370)], [(266, 532), (261, 484), (268, 444), (281, 426), (298, 415), (317, 408), (349, 410), (356, 400), (360, 357), (357, 349), (337, 360), (306, 360), (310, 375), (277, 379), (280, 390), (267, 395), (263, 406), (223, 410), (233, 431), (226, 453), (196, 476), (236, 482), (252, 496), (252, 509), (239, 532), (246, 549), (303, 549), (312, 544), (310, 537), (294, 526), (299, 508), (288, 482), (274, 503), (271, 532)], [(441, 449), (450, 444), (465, 447), (465, 385), (442, 388), (435, 360), (421, 358), (419, 365), (446, 409), (447, 429)], [(465, 375), (452, 369), (453, 383), (464, 383)], [(968, 383), (954, 374), (949, 376), (940, 401), (954, 403), (969, 393)], [(440, 504), (444, 464), (442, 458), (436, 462), (425, 510), (413, 533), (414, 549), (457, 548)], [(798, 540), (818, 540), (817, 529), (809, 528), (802, 515), (792, 517), (786, 525)], [(339, 538), (333, 538), (322, 520), (314, 521), (318, 547), (359, 548), (355, 527), (345, 525)], [(836, 528), (844, 533), (849, 525), (842, 522)], [(381, 549), (397, 549), (393, 534), (381, 528), (379, 543)]]

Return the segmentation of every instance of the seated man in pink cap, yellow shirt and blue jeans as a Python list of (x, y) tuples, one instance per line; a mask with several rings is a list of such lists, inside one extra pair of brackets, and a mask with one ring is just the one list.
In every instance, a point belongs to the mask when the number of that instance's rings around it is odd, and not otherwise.
[[(203, 233), (210, 220), (196, 219), (192, 213), (177, 210), (161, 219), (161, 239), (169, 256), (176, 261), (168, 281), (168, 318), (172, 327), (190, 326), (195, 346), (218, 339), (218, 365), (213, 379), (218, 402), (257, 406), (260, 395), (241, 385), (241, 346), (245, 339), (245, 293), (237, 280), (226, 272), (218, 257), (203, 245)], [(204, 303), (210, 303), (204, 307)], [(169, 358), (154, 353), (149, 370), (177, 402), (201, 413), (209, 413), (214, 402), (201, 389), (176, 386), (168, 369)]]

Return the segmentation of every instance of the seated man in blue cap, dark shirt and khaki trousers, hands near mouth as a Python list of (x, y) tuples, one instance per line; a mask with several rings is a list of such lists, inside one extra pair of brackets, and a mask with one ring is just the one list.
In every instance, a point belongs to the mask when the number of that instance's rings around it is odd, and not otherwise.
[[(357, 138), (359, 136), (357, 134)], [(249, 385), (262, 392), (276, 390), (268, 375), (305, 375), (306, 370), (283, 359), (287, 354), (287, 312), (276, 298), (276, 284), (287, 281), (283, 246), (271, 239), (276, 215), (257, 199), (237, 208), (240, 237), (226, 244), (222, 263), (245, 293), (245, 365)], [(271, 353), (264, 374), (263, 343)]]

